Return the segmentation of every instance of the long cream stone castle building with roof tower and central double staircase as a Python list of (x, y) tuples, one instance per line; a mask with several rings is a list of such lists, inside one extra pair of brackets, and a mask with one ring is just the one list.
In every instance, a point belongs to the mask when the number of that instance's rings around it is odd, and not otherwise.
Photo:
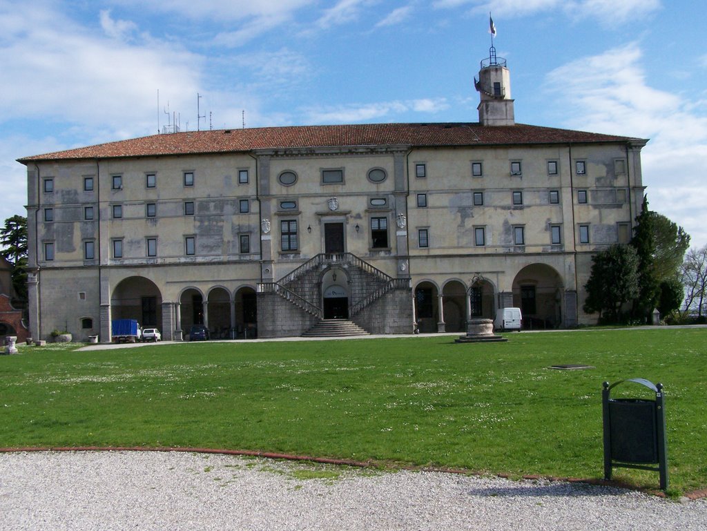
[[(506, 62), (481, 62), (479, 122), (158, 134), (21, 158), (30, 334), (110, 341), (462, 332), (595, 322), (592, 255), (628, 242), (647, 140), (516, 124)], [(343, 332), (341, 332), (343, 333)]]

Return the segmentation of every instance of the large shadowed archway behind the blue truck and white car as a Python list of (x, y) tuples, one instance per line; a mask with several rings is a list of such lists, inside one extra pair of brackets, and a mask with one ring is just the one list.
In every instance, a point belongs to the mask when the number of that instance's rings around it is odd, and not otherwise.
[(135, 319), (142, 327), (161, 327), (162, 293), (144, 276), (119, 281), (110, 298), (111, 319)]

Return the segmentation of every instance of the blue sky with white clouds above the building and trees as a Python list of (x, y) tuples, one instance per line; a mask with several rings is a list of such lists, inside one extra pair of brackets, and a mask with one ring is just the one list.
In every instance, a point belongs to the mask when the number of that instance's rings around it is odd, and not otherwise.
[(168, 105), (182, 131), (476, 122), (489, 11), (516, 121), (649, 138), (651, 209), (707, 244), (702, 0), (0, 0), (0, 220), (16, 158), (155, 134)]

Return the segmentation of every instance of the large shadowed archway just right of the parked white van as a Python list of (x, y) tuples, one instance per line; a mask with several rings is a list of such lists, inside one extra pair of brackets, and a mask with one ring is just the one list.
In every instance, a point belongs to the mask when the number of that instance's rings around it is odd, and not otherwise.
[(563, 325), (564, 283), (554, 267), (530, 264), (513, 279), (513, 305), (520, 308), (526, 329), (559, 328)]

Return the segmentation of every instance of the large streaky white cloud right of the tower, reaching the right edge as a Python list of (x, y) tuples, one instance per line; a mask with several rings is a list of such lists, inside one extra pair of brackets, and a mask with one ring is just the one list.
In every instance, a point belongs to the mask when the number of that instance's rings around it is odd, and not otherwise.
[(551, 71), (545, 90), (564, 105), (566, 127), (649, 138), (642, 151), (650, 208), (707, 243), (707, 115), (689, 96), (650, 87), (635, 43)]

